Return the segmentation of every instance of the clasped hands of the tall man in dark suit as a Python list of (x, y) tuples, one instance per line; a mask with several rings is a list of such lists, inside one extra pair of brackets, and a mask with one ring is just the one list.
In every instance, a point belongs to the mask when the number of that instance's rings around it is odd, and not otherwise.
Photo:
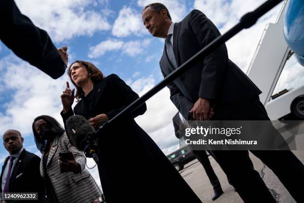
[(210, 102), (208, 99), (199, 98), (190, 110), (190, 114), (195, 120), (208, 120)]

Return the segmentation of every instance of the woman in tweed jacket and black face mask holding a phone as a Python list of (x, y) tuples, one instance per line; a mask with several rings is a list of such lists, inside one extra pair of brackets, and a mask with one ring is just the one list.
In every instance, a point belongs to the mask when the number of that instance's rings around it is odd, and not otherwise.
[[(40, 174), (45, 180), (49, 203), (92, 203), (101, 196), (96, 182), (85, 169), (83, 152), (70, 144), (65, 130), (53, 117), (41, 115), (33, 122), (33, 133), (42, 157)], [(71, 160), (60, 152), (72, 152)], [(61, 172), (62, 171), (62, 172)]]

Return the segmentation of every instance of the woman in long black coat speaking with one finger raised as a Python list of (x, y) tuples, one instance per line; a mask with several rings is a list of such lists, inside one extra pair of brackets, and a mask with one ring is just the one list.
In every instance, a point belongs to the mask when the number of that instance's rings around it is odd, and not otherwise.
[[(76, 95), (67, 83), (61, 96), (64, 123), (78, 114), (98, 128), (139, 98), (117, 75), (103, 77), (89, 62), (76, 61), (68, 71)], [(73, 111), (74, 98), (78, 102)], [(98, 170), (106, 202), (200, 203), (150, 136), (135, 122), (134, 118), (146, 110), (143, 104), (131, 115), (108, 126), (98, 138)]]

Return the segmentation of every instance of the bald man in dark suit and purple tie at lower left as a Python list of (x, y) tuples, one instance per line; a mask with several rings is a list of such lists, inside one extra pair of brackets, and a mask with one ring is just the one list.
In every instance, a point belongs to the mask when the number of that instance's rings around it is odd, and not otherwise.
[(9, 156), (2, 166), (0, 193), (38, 193), (37, 202), (46, 203), (45, 187), (39, 171), (40, 158), (23, 148), (23, 137), (17, 130), (7, 130), (3, 134), (3, 145)]

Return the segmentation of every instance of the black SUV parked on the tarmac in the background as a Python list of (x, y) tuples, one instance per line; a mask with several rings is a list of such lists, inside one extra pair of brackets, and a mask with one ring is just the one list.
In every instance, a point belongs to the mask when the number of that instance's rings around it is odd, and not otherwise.
[(168, 154), (167, 158), (170, 160), (177, 171), (182, 170), (185, 164), (196, 159), (195, 155), (192, 153), (188, 146), (185, 146)]

